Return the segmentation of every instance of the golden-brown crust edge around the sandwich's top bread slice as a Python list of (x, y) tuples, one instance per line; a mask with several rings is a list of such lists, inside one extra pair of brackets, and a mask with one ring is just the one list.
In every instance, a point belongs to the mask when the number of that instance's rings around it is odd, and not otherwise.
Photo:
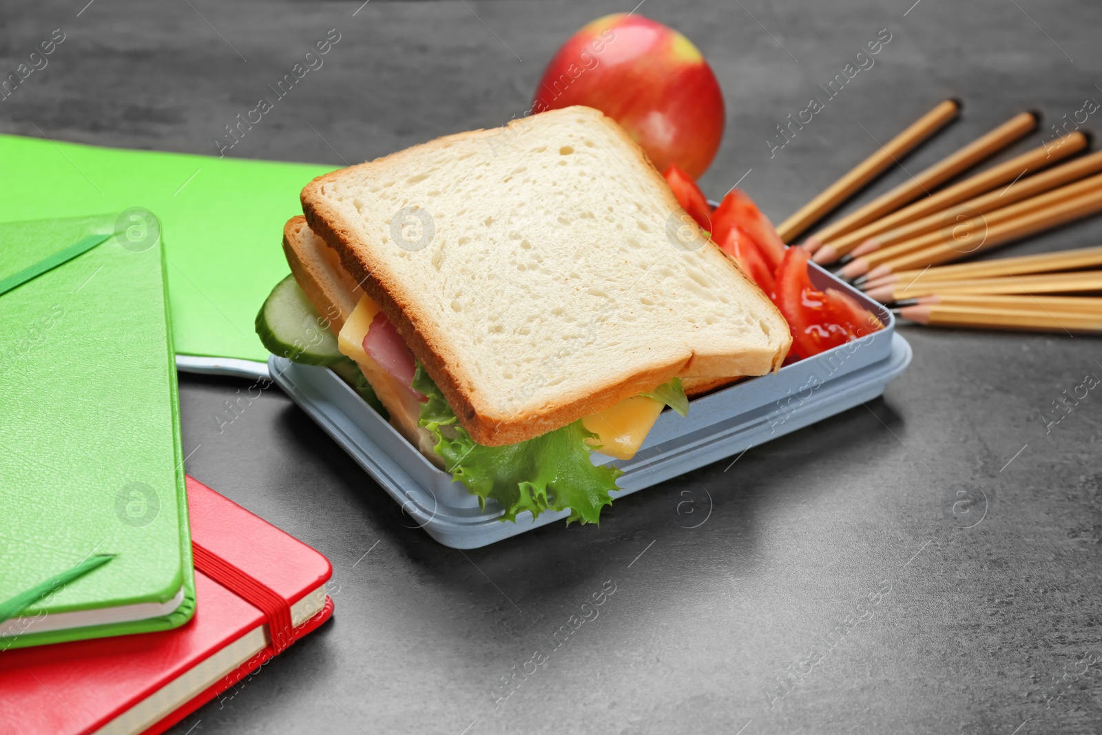
[[(541, 115), (563, 114), (569, 110), (573, 110), (575, 114), (579, 110), (584, 110), (593, 118), (594, 125), (604, 126), (607, 131), (619, 136), (629, 150), (638, 156), (638, 163), (641, 164), (645, 175), (650, 175), (656, 192), (663, 197), (668, 208), (671, 212), (680, 209), (672, 191), (650, 163), (642, 149), (611, 118), (591, 108), (565, 108)], [(509, 127), (525, 123), (523, 120), (515, 120), (509, 123)], [(474, 130), (446, 136), (424, 143), (418, 149), (423, 151), (425, 148), (446, 147), (456, 140), (484, 134), (493, 133), (486, 130)], [(376, 167), (387, 161), (400, 160), (403, 155), (407, 155), (407, 151), (391, 153), (352, 169)], [(425, 371), (440, 387), (449, 404), (455, 411), (460, 424), (479, 444), (501, 446), (539, 436), (572, 423), (584, 415), (612, 408), (625, 398), (651, 390), (678, 376), (721, 378), (732, 375), (764, 375), (780, 367), (791, 344), (791, 335), (787, 333), (787, 323), (780, 312), (761, 293), (754, 281), (742, 272), (733, 259), (723, 253), (714, 244), (709, 244), (705, 247), (715, 248), (715, 252), (721, 256), (714, 259), (715, 262), (720, 263), (717, 267), (730, 269), (734, 278), (743, 279), (754, 292), (758, 293), (761, 298), (761, 305), (775, 316), (776, 326), (786, 331), (779, 349), (746, 350), (741, 355), (690, 354), (685, 357), (665, 358), (634, 375), (623, 378), (611, 377), (604, 385), (597, 386), (584, 394), (575, 391), (576, 394), (561, 396), (551, 406), (536, 407), (508, 414), (495, 412), (487, 401), (480, 400), (473, 381), (465, 377), (458, 356), (452, 353), (440, 335), (433, 331), (432, 320), (428, 313), (419, 307), (415, 295), (407, 293), (403, 287), (398, 283), (396, 277), (388, 269), (385, 258), (371, 258), (370, 253), (364, 251), (365, 249), (355, 247), (357, 234), (353, 231), (344, 215), (331, 206), (329, 201), (322, 195), (322, 186), (346, 175), (348, 171), (347, 169), (339, 170), (318, 176), (302, 190), (301, 199), (305, 220), (311, 229), (339, 255), (341, 262), (352, 278), (358, 281), (364, 291), (379, 304), (387, 318), (413, 350), (413, 355), (424, 366)]]

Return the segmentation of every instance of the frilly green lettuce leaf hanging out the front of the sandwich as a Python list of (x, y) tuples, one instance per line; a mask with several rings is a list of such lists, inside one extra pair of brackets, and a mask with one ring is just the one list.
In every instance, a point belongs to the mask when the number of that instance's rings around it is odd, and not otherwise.
[(483, 508), (493, 498), (505, 509), (503, 520), (516, 521), (525, 510), (534, 518), (544, 510), (570, 508), (568, 526), (599, 522), (601, 508), (612, 504), (608, 494), (617, 489), (616, 478), (624, 471), (590, 462), (585, 440), (596, 434), (581, 421), (526, 442), (484, 446), (458, 425), (455, 412), (420, 364), (413, 388), (429, 398), (421, 404), (419, 423), (432, 432), (436, 454), (444, 458), (452, 478), (478, 496)]

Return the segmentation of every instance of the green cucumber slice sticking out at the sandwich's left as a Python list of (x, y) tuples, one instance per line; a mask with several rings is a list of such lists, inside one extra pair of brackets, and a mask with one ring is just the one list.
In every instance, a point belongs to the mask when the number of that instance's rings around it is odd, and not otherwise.
[(293, 275), (276, 284), (257, 313), (257, 334), (272, 355), (305, 365), (345, 359), (329, 321), (317, 313)]

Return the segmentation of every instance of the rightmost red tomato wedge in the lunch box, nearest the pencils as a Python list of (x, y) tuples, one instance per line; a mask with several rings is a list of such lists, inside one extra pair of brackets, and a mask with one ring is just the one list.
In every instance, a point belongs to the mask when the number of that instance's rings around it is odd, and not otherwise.
[(875, 315), (836, 289), (819, 291), (808, 277), (811, 255), (789, 248), (777, 270), (774, 302), (792, 331), (792, 348), (812, 357), (884, 327)]

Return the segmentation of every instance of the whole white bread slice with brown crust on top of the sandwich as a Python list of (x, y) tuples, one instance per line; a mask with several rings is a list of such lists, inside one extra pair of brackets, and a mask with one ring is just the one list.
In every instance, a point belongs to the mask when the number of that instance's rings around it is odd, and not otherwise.
[(763, 375), (791, 336), (642, 150), (570, 107), (315, 179), (311, 229), (479, 444), (525, 441), (682, 376)]

